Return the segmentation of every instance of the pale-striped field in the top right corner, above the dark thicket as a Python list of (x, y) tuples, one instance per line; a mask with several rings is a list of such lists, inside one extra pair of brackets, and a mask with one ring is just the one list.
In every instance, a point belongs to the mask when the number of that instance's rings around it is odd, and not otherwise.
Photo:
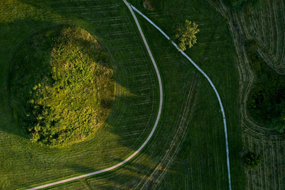
[(279, 74), (285, 74), (285, 16), (284, 1), (264, 1), (257, 10), (245, 9), (239, 14), (246, 38), (259, 42), (258, 52), (263, 60)]

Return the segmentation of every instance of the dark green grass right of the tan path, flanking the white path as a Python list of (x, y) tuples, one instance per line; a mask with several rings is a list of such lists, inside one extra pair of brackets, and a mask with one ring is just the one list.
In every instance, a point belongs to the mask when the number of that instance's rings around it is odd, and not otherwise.
[[(131, 3), (142, 9), (138, 2)], [(233, 189), (245, 189), (239, 156), (238, 78), (230, 32), (225, 20), (208, 3), (175, 4), (166, 1), (169, 10), (147, 16), (166, 33), (171, 32), (172, 24), (184, 19), (200, 24), (200, 43), (186, 53), (209, 74), (227, 107)], [(198, 15), (202, 10), (208, 12)], [(213, 17), (219, 22), (213, 23)], [(142, 18), (140, 22), (164, 82), (161, 125), (136, 159), (113, 173), (87, 179), (88, 184), (92, 189), (228, 189), (222, 115), (213, 90), (158, 31)]]

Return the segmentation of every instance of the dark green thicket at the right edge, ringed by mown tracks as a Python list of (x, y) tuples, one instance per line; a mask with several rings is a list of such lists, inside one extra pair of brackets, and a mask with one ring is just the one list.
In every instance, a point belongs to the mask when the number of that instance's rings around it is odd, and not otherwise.
[(259, 58), (256, 42), (246, 43), (250, 65), (256, 74), (256, 83), (252, 88), (247, 108), (249, 114), (259, 123), (279, 132), (285, 129), (285, 77), (279, 76)]

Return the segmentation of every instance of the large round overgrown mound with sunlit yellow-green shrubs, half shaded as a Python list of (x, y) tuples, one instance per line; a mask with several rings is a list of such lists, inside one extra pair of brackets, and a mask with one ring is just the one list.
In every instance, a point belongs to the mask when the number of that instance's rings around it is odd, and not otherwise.
[(60, 27), (34, 35), (10, 66), (14, 118), (32, 142), (74, 144), (92, 137), (114, 100), (113, 71), (87, 31)]

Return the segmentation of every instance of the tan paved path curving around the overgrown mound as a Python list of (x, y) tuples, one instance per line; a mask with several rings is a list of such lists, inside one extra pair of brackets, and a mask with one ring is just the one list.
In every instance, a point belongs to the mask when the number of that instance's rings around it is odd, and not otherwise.
[(147, 44), (147, 41), (145, 40), (145, 36), (143, 34), (143, 31), (142, 29), (140, 28), (140, 24), (138, 23), (138, 19), (136, 18), (136, 15), (135, 13), (133, 12), (133, 10), (131, 9), (131, 6), (127, 3), (126, 0), (123, 0), (124, 3), (127, 5), (127, 7), (129, 8), (129, 10), (131, 11), (131, 14), (133, 16), (133, 18), (135, 19), (136, 21), (136, 25), (140, 31), (140, 35), (141, 37), (143, 38), (143, 42), (145, 43), (145, 46), (147, 48), (147, 52), (149, 53), (149, 56), (152, 60), (152, 64), (155, 68), (155, 71), (156, 71), (156, 75), (157, 75), (157, 78), (158, 78), (158, 83), (159, 83), (159, 92), (160, 92), (160, 100), (159, 100), (159, 109), (158, 109), (158, 114), (157, 114), (157, 117), (156, 117), (156, 121), (154, 123), (154, 127), (152, 128), (152, 131), (150, 132), (149, 136), (147, 137), (147, 139), (145, 140), (145, 142), (140, 146), (140, 148), (138, 148), (138, 150), (136, 150), (131, 156), (129, 156), (127, 159), (125, 159), (124, 161), (120, 162), (119, 164), (116, 164), (115, 166), (112, 166), (110, 168), (106, 168), (106, 169), (103, 169), (103, 170), (99, 170), (99, 171), (95, 171), (95, 172), (92, 172), (92, 173), (87, 173), (87, 174), (83, 174), (83, 175), (79, 175), (79, 176), (76, 176), (76, 177), (73, 177), (73, 178), (68, 178), (68, 179), (65, 179), (65, 180), (60, 180), (60, 181), (57, 181), (57, 182), (53, 182), (53, 183), (49, 183), (49, 184), (45, 184), (45, 185), (41, 185), (41, 186), (38, 186), (38, 187), (33, 187), (31, 189), (28, 189), (28, 190), (34, 190), (34, 189), (42, 189), (42, 188), (45, 188), (45, 187), (50, 187), (50, 186), (54, 186), (54, 185), (58, 185), (58, 184), (61, 184), (61, 183), (65, 183), (65, 182), (70, 182), (70, 181), (73, 181), (73, 180), (78, 180), (78, 179), (81, 179), (81, 178), (85, 178), (85, 177), (88, 177), (88, 176), (91, 176), (91, 175), (96, 175), (96, 174), (99, 174), (99, 173), (104, 173), (104, 172), (107, 172), (107, 171), (111, 171), (113, 169), (116, 169), (120, 166), (122, 166), (123, 164), (127, 163), (129, 160), (131, 160), (133, 157), (135, 157), (144, 147), (145, 145), (148, 143), (148, 141), (150, 140), (150, 138), (152, 137), (152, 135), (154, 134), (154, 131), (158, 125), (158, 121), (160, 119), (160, 116), (161, 116), (161, 111), (162, 111), (162, 102), (163, 102), (163, 91), (162, 91), (162, 82), (161, 82), (161, 77), (160, 77), (160, 74), (159, 74), (159, 71), (158, 71), (158, 68), (157, 68), (157, 65), (154, 61), (154, 58), (152, 56), (152, 53), (149, 49), (149, 46)]

